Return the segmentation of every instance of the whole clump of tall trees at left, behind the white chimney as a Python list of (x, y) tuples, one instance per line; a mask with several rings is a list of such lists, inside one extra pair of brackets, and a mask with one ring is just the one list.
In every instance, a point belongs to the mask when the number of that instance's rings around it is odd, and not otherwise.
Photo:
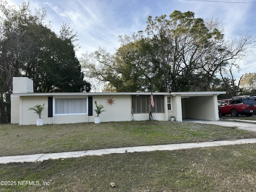
[(12, 77), (20, 75), (34, 80), (35, 92), (89, 91), (75, 55), (76, 32), (64, 23), (56, 35), (44, 24), (46, 10), (32, 14), (29, 4), (23, 2), (19, 9), (0, 4), (2, 92), (11, 92)]

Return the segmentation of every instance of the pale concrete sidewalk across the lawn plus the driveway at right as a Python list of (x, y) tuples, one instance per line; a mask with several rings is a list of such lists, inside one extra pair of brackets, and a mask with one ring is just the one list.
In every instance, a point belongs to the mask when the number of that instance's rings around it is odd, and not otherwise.
[[(221, 126), (232, 126), (238, 129), (256, 131), (256, 124), (244, 123), (244, 122), (230, 122), (230, 121), (197, 121), (197, 123), (204, 124), (216, 124)], [(182, 144), (168, 144), (168, 145), (154, 145), (154, 146), (136, 146), (136, 147), (122, 147), (122, 148), (111, 148), (111, 149), (98, 149), (88, 151), (75, 151), (75, 152), (61, 152), (61, 153), (46, 153), (46, 154), (32, 154), (32, 155), (17, 155), (17, 156), (2, 156), (0, 157), (0, 164), (6, 164), (10, 162), (38, 162), (48, 159), (59, 159), (59, 158), (72, 158), (92, 155), (104, 155), (112, 153), (132, 153), (132, 152), (149, 152), (149, 151), (162, 151), (162, 150), (179, 150), (189, 148), (202, 148), (212, 146), (224, 146), (234, 144), (247, 144), (256, 143), (254, 139), (238, 139), (231, 141), (214, 141), (214, 142), (202, 142), (202, 143), (182, 143)]]

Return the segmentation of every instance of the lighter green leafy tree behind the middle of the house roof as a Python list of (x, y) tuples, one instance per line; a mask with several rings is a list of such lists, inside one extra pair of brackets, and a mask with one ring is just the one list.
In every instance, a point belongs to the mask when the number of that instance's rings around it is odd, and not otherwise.
[[(136, 92), (153, 90), (151, 84), (151, 66), (148, 50), (151, 45), (141, 34), (134, 34), (132, 38), (119, 36), (121, 47), (115, 54), (116, 65), (121, 74), (122, 84), (117, 89), (120, 92)], [(112, 84), (112, 86), (115, 86)]]

